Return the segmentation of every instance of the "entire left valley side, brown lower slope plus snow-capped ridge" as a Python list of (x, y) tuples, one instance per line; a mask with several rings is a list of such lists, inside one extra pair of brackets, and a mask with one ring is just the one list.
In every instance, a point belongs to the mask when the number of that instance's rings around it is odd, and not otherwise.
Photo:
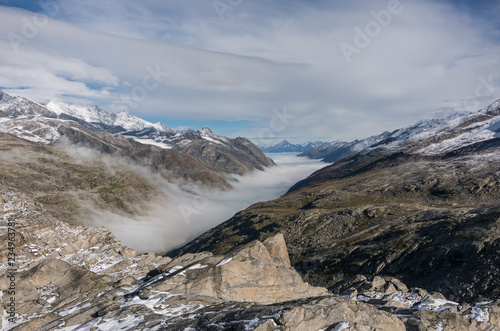
[[(207, 128), (181, 134), (97, 106), (54, 105), (0, 91), (0, 183), (28, 193), (64, 221), (82, 223), (95, 210), (146, 215), (153, 204), (172, 203), (164, 192), (169, 187), (193, 194), (230, 190), (232, 175), (274, 165), (245, 138), (219, 137)], [(153, 130), (175, 143), (111, 134), (118, 128)]]

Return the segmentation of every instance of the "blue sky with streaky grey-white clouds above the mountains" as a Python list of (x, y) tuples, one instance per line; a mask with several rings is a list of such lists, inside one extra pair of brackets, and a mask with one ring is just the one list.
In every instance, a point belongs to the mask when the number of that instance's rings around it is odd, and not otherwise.
[(0, 0), (0, 88), (260, 144), (362, 139), (500, 98), (500, 3)]

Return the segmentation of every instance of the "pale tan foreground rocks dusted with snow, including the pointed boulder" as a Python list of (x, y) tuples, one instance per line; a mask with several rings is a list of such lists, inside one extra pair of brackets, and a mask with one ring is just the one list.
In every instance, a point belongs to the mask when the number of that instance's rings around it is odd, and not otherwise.
[(10, 192), (0, 196), (3, 330), (500, 327), (500, 302), (458, 304), (395, 278), (358, 275), (339, 287), (343, 296), (310, 286), (280, 234), (225, 255), (139, 255), (105, 228), (60, 222), (27, 195), (1, 189)]

